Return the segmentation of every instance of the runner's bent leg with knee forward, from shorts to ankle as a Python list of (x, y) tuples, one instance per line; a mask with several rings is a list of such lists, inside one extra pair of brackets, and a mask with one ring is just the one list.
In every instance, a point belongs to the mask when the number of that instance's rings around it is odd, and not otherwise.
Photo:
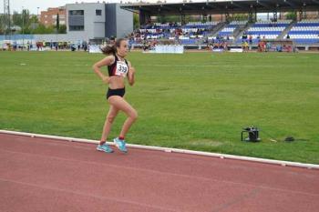
[(110, 96), (108, 98), (108, 103), (115, 106), (118, 110), (123, 111), (128, 116), (119, 134), (119, 136), (125, 137), (129, 132), (129, 127), (132, 126), (138, 118), (138, 112), (121, 96)]

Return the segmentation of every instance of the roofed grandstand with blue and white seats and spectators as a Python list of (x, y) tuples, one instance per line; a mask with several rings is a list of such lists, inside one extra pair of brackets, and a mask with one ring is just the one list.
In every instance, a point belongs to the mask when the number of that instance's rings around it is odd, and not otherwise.
[[(242, 46), (247, 42), (257, 47), (263, 40), (290, 40), (301, 49), (313, 46), (319, 49), (319, 1), (314, 0), (238, 0), (181, 3), (137, 3), (121, 5), (121, 8), (139, 14), (139, 29), (130, 35), (135, 46), (156, 45), (160, 41), (201, 48), (208, 44)], [(306, 12), (316, 12), (315, 19), (307, 19)], [(283, 13), (291, 12), (294, 19), (284, 19)], [(258, 20), (257, 14), (272, 13), (268, 20)], [(244, 14), (247, 20), (235, 20), (233, 15)], [(179, 22), (159, 23), (152, 17), (180, 15)], [(186, 22), (186, 15), (201, 15), (199, 22)], [(211, 15), (224, 18), (215, 21)], [(209, 17), (209, 18), (208, 18)]]

